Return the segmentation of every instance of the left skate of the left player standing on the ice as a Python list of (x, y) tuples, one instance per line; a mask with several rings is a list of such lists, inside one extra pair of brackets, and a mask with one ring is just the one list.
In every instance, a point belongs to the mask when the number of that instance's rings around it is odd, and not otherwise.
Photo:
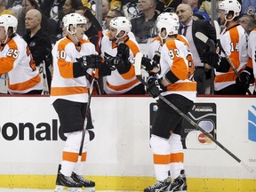
[(65, 187), (68, 187), (69, 192), (82, 192), (83, 185), (76, 182), (71, 177), (65, 176), (61, 174), (61, 172), (58, 172), (54, 192), (63, 192)]

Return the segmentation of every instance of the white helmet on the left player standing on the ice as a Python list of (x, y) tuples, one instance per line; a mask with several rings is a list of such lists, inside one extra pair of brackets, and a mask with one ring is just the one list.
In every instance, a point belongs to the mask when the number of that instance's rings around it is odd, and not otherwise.
[(66, 28), (66, 30), (70, 34), (75, 34), (76, 30), (75, 30), (75, 32), (69, 31), (70, 25), (72, 25), (76, 29), (76, 25), (78, 25), (78, 24), (84, 24), (85, 25), (87, 23), (87, 20), (84, 17), (84, 15), (81, 15), (81, 14), (76, 13), (76, 12), (72, 12), (72, 13), (69, 13), (69, 14), (65, 15), (62, 19), (62, 22), (63, 22), (64, 28)]

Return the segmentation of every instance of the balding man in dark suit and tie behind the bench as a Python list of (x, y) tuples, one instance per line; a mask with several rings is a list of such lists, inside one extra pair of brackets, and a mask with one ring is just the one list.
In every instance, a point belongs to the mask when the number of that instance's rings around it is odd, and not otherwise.
[(202, 63), (200, 60), (200, 56), (209, 50), (209, 47), (196, 37), (196, 32), (203, 33), (216, 43), (215, 29), (206, 20), (193, 19), (193, 10), (189, 4), (180, 4), (177, 7), (176, 13), (182, 24), (180, 33), (186, 36), (191, 48), (195, 66), (194, 79), (197, 83), (197, 94), (205, 94), (207, 85), (213, 82), (213, 70), (208, 64)]

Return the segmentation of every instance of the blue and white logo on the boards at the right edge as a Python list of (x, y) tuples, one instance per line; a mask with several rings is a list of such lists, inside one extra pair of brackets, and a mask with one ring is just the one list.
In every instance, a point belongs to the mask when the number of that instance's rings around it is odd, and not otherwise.
[(248, 110), (248, 139), (256, 142), (256, 106)]

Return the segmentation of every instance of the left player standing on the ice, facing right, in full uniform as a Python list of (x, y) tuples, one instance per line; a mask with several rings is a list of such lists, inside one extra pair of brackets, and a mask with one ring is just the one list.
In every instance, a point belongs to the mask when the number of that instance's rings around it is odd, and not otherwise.
[[(62, 191), (64, 187), (68, 187), (69, 191), (82, 191), (82, 187), (94, 190), (95, 183), (82, 177), (86, 148), (89, 140), (94, 137), (91, 131), (91, 113), (85, 111), (89, 97), (85, 75), (92, 75), (92, 68), (100, 67), (100, 56), (97, 55), (94, 45), (83, 39), (86, 25), (83, 15), (70, 13), (64, 16), (62, 21), (66, 36), (52, 48), (51, 100), (60, 118), (60, 131), (65, 133), (67, 140), (62, 152), (55, 191)], [(77, 161), (85, 115), (87, 126), (80, 163)]]

